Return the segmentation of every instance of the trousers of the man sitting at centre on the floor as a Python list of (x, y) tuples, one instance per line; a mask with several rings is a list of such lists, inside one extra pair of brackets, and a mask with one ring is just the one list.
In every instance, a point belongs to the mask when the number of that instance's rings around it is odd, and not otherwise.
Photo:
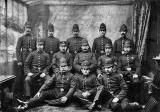
[(102, 87), (99, 86), (97, 88), (97, 91), (90, 94), (90, 96), (88, 96), (87, 98), (82, 95), (83, 91), (81, 90), (77, 90), (73, 96), (77, 98), (82, 105), (88, 108), (93, 102), (95, 103), (98, 102), (101, 92), (102, 92)]

